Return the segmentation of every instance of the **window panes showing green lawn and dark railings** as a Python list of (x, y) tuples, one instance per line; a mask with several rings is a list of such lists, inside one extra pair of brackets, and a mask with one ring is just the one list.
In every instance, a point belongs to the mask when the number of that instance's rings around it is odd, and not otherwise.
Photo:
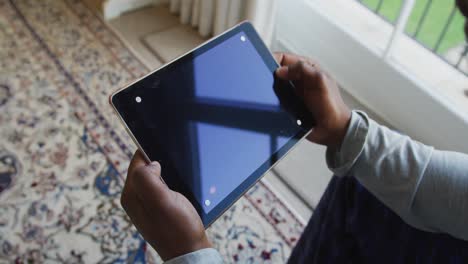
[[(403, 1), (355, 0), (375, 12), (388, 23), (395, 25)], [(454, 1), (417, 0), (411, 7), (405, 26), (407, 36), (426, 49), (468, 75), (468, 45), (463, 32), (465, 18)]]

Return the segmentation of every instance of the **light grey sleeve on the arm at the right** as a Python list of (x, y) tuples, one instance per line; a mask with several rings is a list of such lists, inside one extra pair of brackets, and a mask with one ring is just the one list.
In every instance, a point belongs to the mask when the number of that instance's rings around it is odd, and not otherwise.
[(438, 151), (354, 111), (329, 168), (352, 175), (408, 224), (468, 240), (468, 155)]

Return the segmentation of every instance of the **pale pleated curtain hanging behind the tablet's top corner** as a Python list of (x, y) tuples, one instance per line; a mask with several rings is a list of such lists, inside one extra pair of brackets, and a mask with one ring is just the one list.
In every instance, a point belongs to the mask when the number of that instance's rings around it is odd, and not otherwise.
[(271, 44), (276, 0), (170, 0), (170, 10), (182, 24), (198, 28), (202, 37), (218, 35), (249, 20), (267, 45)]

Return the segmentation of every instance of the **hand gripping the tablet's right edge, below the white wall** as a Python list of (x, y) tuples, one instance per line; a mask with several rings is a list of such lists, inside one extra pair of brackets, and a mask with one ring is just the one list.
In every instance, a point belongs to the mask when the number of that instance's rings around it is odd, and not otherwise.
[(281, 66), (276, 76), (293, 82), (296, 94), (315, 119), (316, 126), (307, 139), (340, 148), (351, 111), (343, 102), (336, 83), (311, 59), (285, 53), (275, 53), (275, 58)]

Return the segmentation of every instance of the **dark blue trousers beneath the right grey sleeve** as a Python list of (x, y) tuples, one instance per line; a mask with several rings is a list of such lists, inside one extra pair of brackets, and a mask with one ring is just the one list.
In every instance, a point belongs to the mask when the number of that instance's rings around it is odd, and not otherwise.
[(415, 229), (354, 177), (333, 177), (289, 263), (468, 263), (468, 242)]

